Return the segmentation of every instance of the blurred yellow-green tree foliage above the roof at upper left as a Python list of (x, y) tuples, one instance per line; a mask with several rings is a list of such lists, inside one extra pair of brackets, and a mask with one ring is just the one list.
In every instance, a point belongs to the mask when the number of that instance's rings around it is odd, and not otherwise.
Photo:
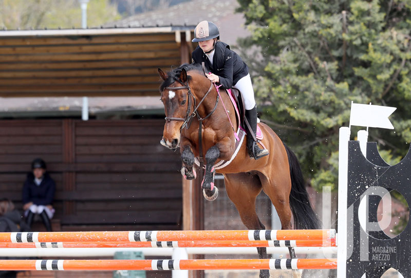
[[(90, 0), (87, 23), (98, 27), (121, 18), (109, 0)], [(78, 0), (0, 0), (0, 28), (81, 28)]]

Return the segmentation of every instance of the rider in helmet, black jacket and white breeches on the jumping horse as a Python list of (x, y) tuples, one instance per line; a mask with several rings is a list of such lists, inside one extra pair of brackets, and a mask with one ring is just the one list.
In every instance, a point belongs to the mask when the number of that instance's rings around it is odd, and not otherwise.
[[(192, 62), (201, 64), (204, 62), (211, 73), (207, 78), (213, 83), (220, 83), (224, 88), (235, 88), (241, 92), (246, 109), (246, 117), (251, 126), (251, 131), (257, 130), (257, 107), (254, 100), (254, 90), (251, 84), (248, 67), (241, 57), (230, 50), (230, 46), (220, 42), (218, 27), (209, 21), (200, 22), (194, 30), (193, 43), (198, 46), (192, 53)], [(268, 155), (267, 149), (260, 149), (253, 139), (247, 136), (247, 149), (251, 158), (257, 160)]]

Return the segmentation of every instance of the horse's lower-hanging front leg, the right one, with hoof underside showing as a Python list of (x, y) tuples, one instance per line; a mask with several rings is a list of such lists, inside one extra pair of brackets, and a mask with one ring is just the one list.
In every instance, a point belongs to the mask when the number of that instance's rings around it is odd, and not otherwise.
[(208, 149), (206, 156), (206, 171), (201, 183), (203, 188), (203, 195), (209, 201), (214, 201), (218, 196), (218, 189), (214, 186), (215, 169), (214, 164), (217, 158), (220, 156), (220, 151), (217, 146), (213, 146)]

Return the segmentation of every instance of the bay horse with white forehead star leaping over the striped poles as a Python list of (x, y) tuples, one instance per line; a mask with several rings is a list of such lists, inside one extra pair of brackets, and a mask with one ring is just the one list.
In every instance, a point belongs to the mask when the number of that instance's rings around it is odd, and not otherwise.
[[(166, 115), (160, 143), (172, 150), (180, 148), (181, 172), (188, 180), (196, 177), (195, 158), (201, 160), (202, 150), (206, 151), (202, 188), (204, 197), (214, 200), (218, 194), (214, 165), (221, 160), (230, 161), (235, 152), (234, 130), (240, 123), (234, 106), (226, 92), (217, 92), (200, 65), (184, 64), (168, 73), (158, 69), (158, 73), (163, 80), (160, 92)], [(295, 154), (270, 127), (264, 123), (259, 123), (259, 127), (264, 134), (261, 143), (270, 154), (259, 160), (250, 159), (243, 140), (231, 163), (217, 170), (224, 176), (227, 194), (242, 223), (249, 230), (265, 229), (255, 210), (256, 197), (263, 190), (277, 210), (282, 229), (292, 228), (291, 215), (295, 229), (318, 229), (319, 221)], [(257, 250), (260, 259), (267, 259), (266, 248)], [(294, 249), (289, 248), (289, 252), (295, 259)], [(259, 276), (268, 278), (269, 270), (260, 270)]]

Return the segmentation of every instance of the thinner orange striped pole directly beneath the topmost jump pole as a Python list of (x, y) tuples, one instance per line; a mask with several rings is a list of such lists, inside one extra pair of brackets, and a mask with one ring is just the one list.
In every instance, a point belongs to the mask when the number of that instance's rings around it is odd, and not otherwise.
[(169, 242), (29, 242), (0, 243), (0, 248), (188, 248), (188, 247), (335, 247), (327, 241), (169, 241)]

